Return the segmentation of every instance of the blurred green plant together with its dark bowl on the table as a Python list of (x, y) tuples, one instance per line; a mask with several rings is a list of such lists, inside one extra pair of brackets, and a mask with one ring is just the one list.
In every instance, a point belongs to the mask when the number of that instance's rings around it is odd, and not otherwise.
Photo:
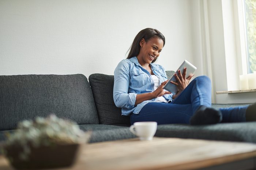
[(80, 144), (90, 133), (72, 121), (55, 115), (34, 121), (24, 120), (18, 130), (8, 134), (3, 153), (16, 169), (43, 169), (70, 166), (75, 162)]

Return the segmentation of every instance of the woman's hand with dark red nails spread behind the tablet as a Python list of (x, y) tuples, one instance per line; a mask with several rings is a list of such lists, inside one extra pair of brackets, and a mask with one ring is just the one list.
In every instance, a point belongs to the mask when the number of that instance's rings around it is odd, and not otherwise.
[(181, 74), (180, 70), (178, 71), (178, 74), (176, 74), (176, 73), (174, 73), (174, 74), (175, 74), (174, 76), (175, 76), (177, 82), (171, 81), (171, 83), (175, 84), (177, 86), (178, 92), (181, 92), (182, 90), (184, 90), (188, 86), (191, 78), (194, 76), (194, 74), (193, 74), (193, 75), (188, 76), (188, 78), (186, 78), (186, 74), (187, 74), (186, 67), (184, 68), (183, 74)]

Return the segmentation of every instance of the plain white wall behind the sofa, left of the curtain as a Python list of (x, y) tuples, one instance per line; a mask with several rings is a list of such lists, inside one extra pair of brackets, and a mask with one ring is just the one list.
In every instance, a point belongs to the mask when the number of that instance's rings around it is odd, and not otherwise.
[(113, 74), (147, 27), (166, 70), (193, 62), (190, 0), (1, 0), (0, 75)]

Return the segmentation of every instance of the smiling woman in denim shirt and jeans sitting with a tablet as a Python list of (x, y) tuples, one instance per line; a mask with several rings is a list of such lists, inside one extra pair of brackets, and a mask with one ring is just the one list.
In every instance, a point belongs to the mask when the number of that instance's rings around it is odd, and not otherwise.
[(256, 121), (256, 104), (235, 108), (211, 108), (211, 81), (206, 76), (186, 78), (186, 68), (175, 75), (178, 93), (163, 90), (167, 83), (165, 70), (154, 64), (165, 37), (156, 29), (140, 31), (130, 47), (127, 59), (114, 71), (114, 103), (122, 108), (123, 116), (137, 121), (157, 121), (158, 124)]

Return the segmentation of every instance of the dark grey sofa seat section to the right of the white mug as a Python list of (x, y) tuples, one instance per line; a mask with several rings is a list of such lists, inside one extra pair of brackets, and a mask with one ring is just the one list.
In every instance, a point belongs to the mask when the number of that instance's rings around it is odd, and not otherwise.
[(227, 140), (256, 143), (256, 122), (218, 123), (214, 125), (166, 124), (158, 125), (155, 136)]

